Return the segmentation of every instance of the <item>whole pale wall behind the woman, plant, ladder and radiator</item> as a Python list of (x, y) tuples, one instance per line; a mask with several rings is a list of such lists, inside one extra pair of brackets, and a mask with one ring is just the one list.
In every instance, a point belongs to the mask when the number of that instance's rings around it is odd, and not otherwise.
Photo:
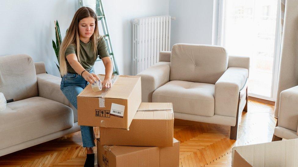
[[(169, 0), (103, 0), (103, 6), (119, 72), (130, 75), (131, 20), (135, 17), (168, 15)], [(44, 61), (49, 74), (60, 76), (52, 47), (54, 20), (58, 20), (64, 38), (77, 9), (77, 0), (1, 0), (0, 56), (29, 54), (35, 62)], [(96, 69), (102, 70), (102, 64), (96, 64)]]

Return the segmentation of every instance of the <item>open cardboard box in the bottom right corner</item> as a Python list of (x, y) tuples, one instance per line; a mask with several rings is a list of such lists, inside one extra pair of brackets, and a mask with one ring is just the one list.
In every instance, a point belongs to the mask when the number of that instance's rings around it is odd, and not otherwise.
[(298, 139), (236, 146), (232, 149), (232, 166), (298, 166), (297, 150)]

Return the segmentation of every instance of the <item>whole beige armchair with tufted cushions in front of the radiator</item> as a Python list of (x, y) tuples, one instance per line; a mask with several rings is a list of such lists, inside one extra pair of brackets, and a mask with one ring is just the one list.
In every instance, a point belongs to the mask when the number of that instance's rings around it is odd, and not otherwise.
[[(249, 57), (220, 46), (177, 43), (141, 76), (142, 102), (172, 102), (175, 118), (231, 126), (247, 111)], [(240, 114), (241, 115), (241, 114)]]

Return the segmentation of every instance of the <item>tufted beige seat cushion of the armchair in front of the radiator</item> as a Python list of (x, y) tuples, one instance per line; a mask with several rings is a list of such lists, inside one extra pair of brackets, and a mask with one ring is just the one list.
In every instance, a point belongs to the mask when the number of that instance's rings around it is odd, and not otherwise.
[(153, 92), (152, 102), (171, 102), (177, 113), (214, 115), (213, 84), (170, 81)]

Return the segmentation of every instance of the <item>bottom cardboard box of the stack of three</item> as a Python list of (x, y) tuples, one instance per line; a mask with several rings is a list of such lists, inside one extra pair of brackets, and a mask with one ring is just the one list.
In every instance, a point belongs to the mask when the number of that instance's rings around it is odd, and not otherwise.
[(173, 147), (107, 146), (97, 140), (97, 163), (100, 167), (177, 167), (179, 141), (173, 138)]

